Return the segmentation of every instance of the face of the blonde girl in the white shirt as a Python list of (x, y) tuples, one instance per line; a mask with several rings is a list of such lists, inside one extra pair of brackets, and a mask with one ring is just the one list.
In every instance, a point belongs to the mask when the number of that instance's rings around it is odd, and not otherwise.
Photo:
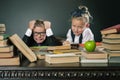
[(79, 36), (86, 28), (86, 23), (84, 20), (78, 20), (76, 18), (72, 19), (72, 31), (76, 36)]

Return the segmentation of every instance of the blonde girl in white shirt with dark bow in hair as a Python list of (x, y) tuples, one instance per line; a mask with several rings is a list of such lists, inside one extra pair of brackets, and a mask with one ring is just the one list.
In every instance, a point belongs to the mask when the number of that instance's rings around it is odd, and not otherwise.
[(71, 29), (68, 30), (67, 39), (63, 44), (80, 44), (88, 40), (94, 40), (94, 35), (90, 30), (90, 15), (86, 6), (79, 6), (71, 14)]

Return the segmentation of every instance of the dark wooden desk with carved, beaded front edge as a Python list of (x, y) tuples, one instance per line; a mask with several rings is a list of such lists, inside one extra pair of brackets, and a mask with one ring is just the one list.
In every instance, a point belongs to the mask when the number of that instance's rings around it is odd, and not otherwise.
[(44, 60), (30, 63), (22, 61), (20, 66), (1, 66), (0, 80), (117, 80), (120, 64), (54, 64)]

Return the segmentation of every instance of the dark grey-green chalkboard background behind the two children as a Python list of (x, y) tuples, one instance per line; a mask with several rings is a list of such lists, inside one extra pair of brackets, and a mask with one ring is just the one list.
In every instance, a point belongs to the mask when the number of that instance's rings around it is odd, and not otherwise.
[(100, 30), (120, 23), (119, 0), (0, 0), (0, 23), (6, 34), (22, 37), (32, 19), (50, 20), (55, 36), (64, 37), (70, 28), (70, 12), (79, 5), (89, 8), (91, 29), (101, 41)]

